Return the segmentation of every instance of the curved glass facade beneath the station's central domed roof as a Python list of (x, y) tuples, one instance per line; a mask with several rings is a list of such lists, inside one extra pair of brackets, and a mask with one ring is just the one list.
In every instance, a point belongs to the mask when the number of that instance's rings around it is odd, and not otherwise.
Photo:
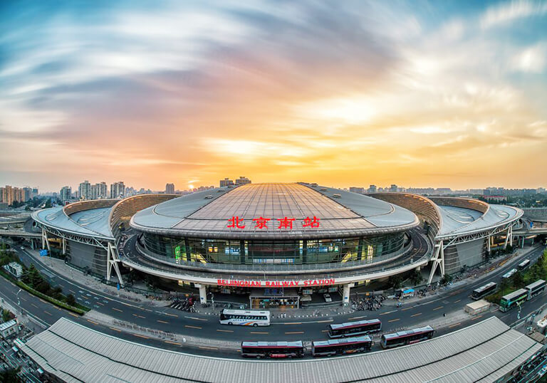
[(373, 261), (405, 246), (404, 233), (343, 239), (239, 241), (144, 234), (147, 250), (173, 263), (314, 264)]

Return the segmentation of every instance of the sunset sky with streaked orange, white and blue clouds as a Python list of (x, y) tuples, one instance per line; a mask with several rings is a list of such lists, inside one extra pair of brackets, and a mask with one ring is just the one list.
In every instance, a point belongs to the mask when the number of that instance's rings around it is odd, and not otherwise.
[(547, 187), (547, 1), (2, 1), (0, 184)]

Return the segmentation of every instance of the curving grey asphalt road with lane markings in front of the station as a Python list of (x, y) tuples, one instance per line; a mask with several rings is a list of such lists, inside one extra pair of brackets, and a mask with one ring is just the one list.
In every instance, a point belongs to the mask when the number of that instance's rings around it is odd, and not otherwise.
[[(154, 308), (147, 305), (130, 303), (115, 296), (106, 296), (104, 293), (98, 293), (95, 290), (87, 288), (85, 285), (70, 280), (70, 277), (66, 278), (65, 276), (55, 274), (53, 278), (56, 284), (63, 288), (64, 293), (72, 293), (78, 299), (78, 302), (90, 305), (90, 307), (97, 310), (99, 313), (104, 313), (115, 317), (118, 320), (133, 322), (142, 327), (149, 327), (155, 330), (174, 332), (186, 336), (207, 337), (217, 340), (324, 340), (326, 325), (334, 322), (380, 318), (383, 324), (383, 331), (390, 332), (400, 327), (410, 328), (429, 320), (437, 320), (443, 313), (447, 313), (447, 317), (449, 317), (452, 313), (462, 310), (464, 305), (472, 301), (470, 300), (469, 295), (474, 288), (490, 281), (499, 281), (501, 275), (510, 268), (516, 266), (522, 258), (535, 260), (541, 254), (542, 250), (543, 248), (537, 248), (531, 253), (528, 253), (526, 257), (521, 256), (519, 258), (514, 258), (504, 264), (503, 267), (499, 268), (499, 270), (494, 272), (489, 278), (474, 281), (464, 288), (449, 291), (440, 296), (436, 295), (431, 298), (424, 298), (420, 303), (414, 305), (403, 305), (401, 308), (384, 305), (382, 310), (375, 312), (362, 311), (349, 315), (340, 315), (335, 317), (335, 320), (333, 318), (291, 320), (286, 322), (273, 322), (270, 327), (258, 328), (220, 325), (217, 317), (211, 315), (186, 313), (172, 308)], [(30, 262), (33, 262), (38, 269), (44, 269), (44, 266), (31, 258), (26, 251), (19, 250), (18, 252), (21, 261), (24, 263), (29, 264)], [(0, 284), (2, 286), (0, 292), (1, 298), (8, 299), (12, 305), (16, 305), (15, 295), (19, 288), (11, 285), (11, 283), (8, 283), (3, 278), (0, 278)], [(101, 332), (115, 335), (116, 337), (145, 342), (148, 345), (160, 345), (160, 347), (170, 350), (182, 350), (183, 348), (183, 345), (157, 341), (152, 338), (139, 337), (137, 339), (135, 335), (113, 330), (113, 327), (105, 327), (99, 325), (97, 322), (88, 320), (85, 317), (81, 318), (66, 310), (56, 308), (56, 306), (36, 298), (33, 295), (29, 295), (25, 291), (21, 292), (19, 296), (21, 298), (21, 308), (23, 308), (28, 315), (33, 316), (33, 318), (43, 322), (45, 325), (51, 325), (59, 318), (65, 317), (93, 329), (100, 330)], [(523, 312), (521, 315), (523, 316), (528, 312), (536, 310), (536, 308), (544, 302), (544, 297), (545, 295), (540, 295), (523, 305)], [(437, 335), (458, 330), (459, 328), (469, 325), (469, 323), (476, 322), (476, 320), (480, 320), (481, 318), (486, 319), (491, 315), (498, 316), (508, 324), (517, 320), (516, 310), (512, 310), (509, 313), (496, 312), (494, 314), (479, 316), (472, 320), (462, 321), (449, 329), (439, 331)], [(229, 354), (229, 352), (220, 350), (210, 350), (209, 347), (204, 347), (202, 350), (199, 350), (199, 353), (206, 355)]]

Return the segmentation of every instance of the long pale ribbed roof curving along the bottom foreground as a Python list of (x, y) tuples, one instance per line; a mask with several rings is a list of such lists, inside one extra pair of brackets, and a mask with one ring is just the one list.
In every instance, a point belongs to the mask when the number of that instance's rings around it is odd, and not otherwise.
[(21, 350), (66, 382), (493, 382), (541, 345), (492, 317), (392, 350), (266, 362), (161, 350), (61, 318)]

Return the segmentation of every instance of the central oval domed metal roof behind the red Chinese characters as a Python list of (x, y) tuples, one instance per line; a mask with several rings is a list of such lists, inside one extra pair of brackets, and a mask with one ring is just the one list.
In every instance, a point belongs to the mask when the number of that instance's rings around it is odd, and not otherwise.
[[(230, 228), (230, 219), (243, 219)], [(292, 229), (280, 227), (293, 219)], [(318, 219), (318, 227), (305, 226)], [(257, 227), (256, 219), (269, 219)], [(131, 219), (140, 231), (201, 238), (338, 238), (395, 233), (419, 224), (400, 206), (361, 194), (305, 184), (246, 184), (189, 194), (144, 209)]]

